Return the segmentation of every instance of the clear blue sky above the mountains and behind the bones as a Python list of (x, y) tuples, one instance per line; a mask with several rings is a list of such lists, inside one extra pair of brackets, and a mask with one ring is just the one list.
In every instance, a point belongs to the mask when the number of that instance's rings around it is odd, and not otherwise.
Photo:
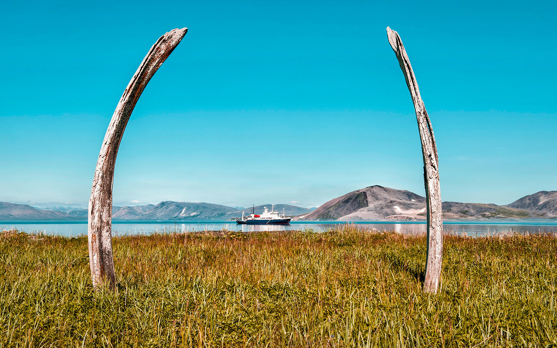
[(0, 201), (86, 205), (125, 86), (188, 27), (126, 129), (114, 203), (305, 207), (369, 185), (424, 194), (399, 32), (443, 200), (557, 190), (555, 2), (6, 2)]

